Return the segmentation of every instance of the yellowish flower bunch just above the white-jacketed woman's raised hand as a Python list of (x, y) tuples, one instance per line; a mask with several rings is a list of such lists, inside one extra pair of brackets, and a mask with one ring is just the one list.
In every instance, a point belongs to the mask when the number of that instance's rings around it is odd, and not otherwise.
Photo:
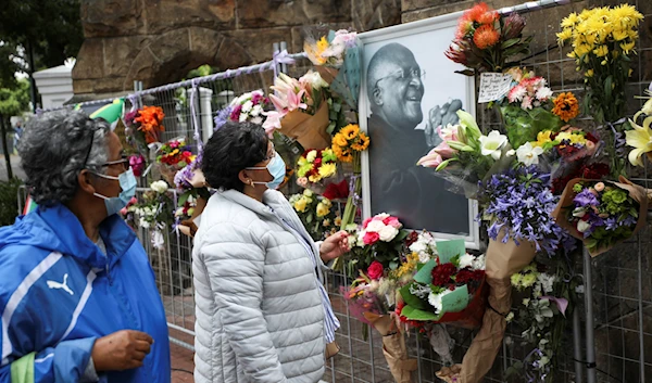
[(321, 241), (337, 231), (341, 218), (330, 200), (305, 189), (303, 193), (291, 195), (289, 202), (313, 240)]

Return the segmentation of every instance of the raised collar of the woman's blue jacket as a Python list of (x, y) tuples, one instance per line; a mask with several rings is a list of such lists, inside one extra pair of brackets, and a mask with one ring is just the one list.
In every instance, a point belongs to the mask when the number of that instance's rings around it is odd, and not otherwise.
[[(66, 206), (57, 204), (48, 208), (39, 207), (37, 214), (60, 241), (58, 247), (61, 248), (52, 250), (71, 255), (93, 268), (104, 269), (106, 259), (109, 266), (113, 267), (136, 240), (136, 235), (121, 217), (117, 215), (106, 217), (100, 224), (100, 237), (106, 247), (106, 256), (104, 256), (86, 235), (77, 216)], [(39, 233), (35, 234), (39, 235)]]

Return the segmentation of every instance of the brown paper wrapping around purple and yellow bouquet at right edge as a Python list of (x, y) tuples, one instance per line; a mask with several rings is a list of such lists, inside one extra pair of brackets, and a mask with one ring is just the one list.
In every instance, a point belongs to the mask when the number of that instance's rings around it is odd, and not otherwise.
[[(570, 235), (573, 235), (584, 242), (585, 241), (584, 234), (580, 233), (579, 231), (577, 231), (575, 226), (572, 222), (569, 222), (567, 219), (567, 212), (573, 206), (573, 199), (574, 199), (574, 194), (575, 194), (573, 192), (573, 187), (576, 183), (582, 182), (582, 181), (584, 182), (595, 182), (595, 180), (584, 179), (584, 178), (575, 178), (575, 179), (572, 179), (570, 181), (568, 181), (568, 183), (566, 184), (566, 188), (564, 188), (564, 192), (562, 193), (560, 202), (557, 203), (554, 212), (552, 212), (552, 216), (554, 217), (556, 224), (560, 227), (568, 230)], [(620, 177), (619, 181), (620, 182), (604, 181), (604, 183), (611, 183), (617, 188), (620, 188), (620, 189), (627, 191), (629, 193), (629, 196), (631, 196), (634, 199), (634, 201), (638, 202), (639, 217), (638, 217), (636, 227), (634, 228), (634, 233), (636, 233), (637, 231), (642, 229), (643, 226), (645, 226), (645, 219), (647, 219), (647, 215), (648, 215), (648, 212), (647, 212), (648, 210), (648, 201), (652, 196), (652, 194), (651, 194), (650, 190), (645, 190), (643, 187), (631, 183), (625, 177)], [(603, 247), (595, 248), (593, 251), (589, 251), (589, 254), (591, 254), (591, 256), (594, 257), (597, 255), (600, 255), (600, 254), (609, 251), (610, 248), (612, 248), (613, 246), (615, 246), (616, 244), (618, 244), (623, 241), (625, 241), (625, 239), (614, 242), (611, 246), (603, 246)]]

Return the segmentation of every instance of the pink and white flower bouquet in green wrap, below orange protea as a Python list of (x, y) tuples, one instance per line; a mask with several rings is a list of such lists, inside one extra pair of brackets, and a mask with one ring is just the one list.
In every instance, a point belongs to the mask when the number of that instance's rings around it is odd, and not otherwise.
[[(500, 103), (500, 111), (505, 125), (510, 142), (518, 148), (527, 141), (534, 141), (537, 133), (543, 129), (559, 130), (563, 123), (552, 107), (552, 90), (547, 86), (543, 77), (535, 76), (532, 72), (524, 73), (521, 68), (507, 71), (512, 75), (513, 86), (507, 97)], [(570, 93), (572, 94), (572, 93)], [(565, 101), (572, 103), (570, 97), (560, 98), (560, 107), (556, 110), (564, 117), (570, 113), (564, 113)], [(577, 100), (575, 100), (577, 102)], [(570, 105), (572, 106), (572, 105)]]

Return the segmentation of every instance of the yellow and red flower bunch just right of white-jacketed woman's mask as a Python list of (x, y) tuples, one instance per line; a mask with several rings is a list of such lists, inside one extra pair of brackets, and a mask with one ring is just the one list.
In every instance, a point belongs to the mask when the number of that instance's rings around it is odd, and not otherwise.
[(313, 191), (323, 191), (324, 186), (321, 182), (336, 174), (337, 156), (333, 149), (306, 150), (297, 161), (297, 183), (302, 188), (310, 187)]

